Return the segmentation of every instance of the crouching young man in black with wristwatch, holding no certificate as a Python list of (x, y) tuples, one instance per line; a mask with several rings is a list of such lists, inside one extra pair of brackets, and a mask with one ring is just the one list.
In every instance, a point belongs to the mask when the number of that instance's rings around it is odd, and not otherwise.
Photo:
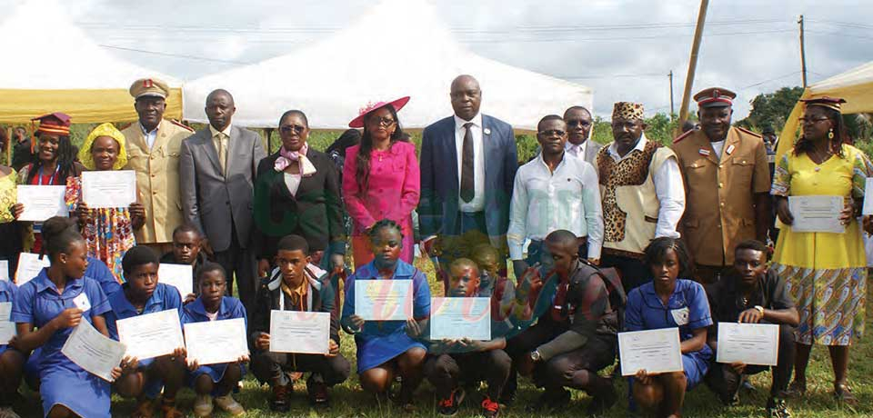
[(612, 381), (597, 374), (616, 359), (617, 311), (605, 279), (579, 259), (578, 250), (577, 236), (567, 230), (546, 236), (542, 271), (554, 274), (537, 297), (534, 312), (542, 314), (536, 325), (509, 340), (519, 373), (532, 374), (534, 383), (545, 389), (529, 408), (534, 411), (567, 406), (567, 387), (593, 396), (588, 414), (602, 413), (617, 401)]

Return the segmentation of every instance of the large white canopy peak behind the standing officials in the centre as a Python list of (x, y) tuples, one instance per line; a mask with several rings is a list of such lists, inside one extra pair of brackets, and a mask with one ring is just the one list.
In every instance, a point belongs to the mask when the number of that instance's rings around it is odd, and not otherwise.
[(479, 81), (482, 113), (517, 129), (535, 129), (542, 116), (562, 114), (570, 105), (592, 106), (586, 86), (467, 51), (426, 0), (385, 0), (295, 53), (187, 83), (184, 114), (206, 122), (206, 95), (224, 88), (235, 98), (234, 124), (275, 127), (286, 110), (300, 109), (312, 128), (342, 129), (365, 104), (409, 95), (400, 121), (421, 128), (452, 114), (449, 86), (461, 74)]

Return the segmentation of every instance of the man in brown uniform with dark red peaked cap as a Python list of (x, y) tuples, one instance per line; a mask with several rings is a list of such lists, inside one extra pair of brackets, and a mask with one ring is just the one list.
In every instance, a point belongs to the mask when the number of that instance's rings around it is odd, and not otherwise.
[(760, 135), (730, 125), (736, 96), (717, 87), (697, 93), (700, 129), (673, 140), (686, 188), (680, 227), (704, 284), (730, 270), (739, 242), (767, 242), (767, 151)]

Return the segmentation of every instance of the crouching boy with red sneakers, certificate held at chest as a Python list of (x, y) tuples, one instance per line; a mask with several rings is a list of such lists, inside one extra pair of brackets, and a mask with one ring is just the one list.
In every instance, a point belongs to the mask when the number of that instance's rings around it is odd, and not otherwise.
[[(491, 289), (486, 289), (487, 294), (483, 294), (477, 264), (467, 258), (459, 258), (449, 266), (448, 284), (447, 295), (452, 298), (492, 297)], [(507, 316), (507, 310), (500, 309), (499, 300), (497, 304), (490, 306), (492, 320)], [(495, 306), (497, 309), (494, 309)], [(508, 307), (511, 308), (511, 305)], [(492, 325), (491, 331), (494, 336), (505, 330), (495, 330)], [(406, 322), (406, 333), (421, 337), (426, 334), (426, 327), (422, 330), (415, 320), (409, 320)], [(433, 355), (428, 356), (425, 363), (425, 375), (437, 388), (437, 412), (444, 416), (455, 415), (466, 396), (461, 382), (484, 380), (488, 383), (488, 391), (481, 403), (482, 414), (489, 418), (497, 417), (500, 413), (497, 399), (507, 383), (512, 367), (512, 359), (503, 350), (506, 346), (507, 340), (503, 336), (497, 336), (490, 341), (464, 338), (432, 343), (428, 351)]]

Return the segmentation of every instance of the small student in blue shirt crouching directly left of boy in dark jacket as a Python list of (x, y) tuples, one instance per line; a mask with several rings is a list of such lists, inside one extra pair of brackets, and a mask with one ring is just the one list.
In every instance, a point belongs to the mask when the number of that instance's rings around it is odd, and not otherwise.
[[(200, 288), (200, 296), (194, 302), (182, 308), (182, 324), (204, 323), (206, 321), (222, 321), (226, 319), (243, 318), (248, 326), (246, 308), (239, 299), (225, 296), (227, 281), (225, 269), (221, 264), (206, 262), (197, 270), (196, 283)], [(248, 356), (241, 357), (236, 363), (221, 363), (199, 365), (189, 363), (189, 383), (196, 392), (194, 414), (198, 417), (211, 416), (213, 411), (213, 396), (218, 408), (233, 416), (246, 413), (243, 406), (236, 402), (231, 391), (246, 373), (245, 363)]]

